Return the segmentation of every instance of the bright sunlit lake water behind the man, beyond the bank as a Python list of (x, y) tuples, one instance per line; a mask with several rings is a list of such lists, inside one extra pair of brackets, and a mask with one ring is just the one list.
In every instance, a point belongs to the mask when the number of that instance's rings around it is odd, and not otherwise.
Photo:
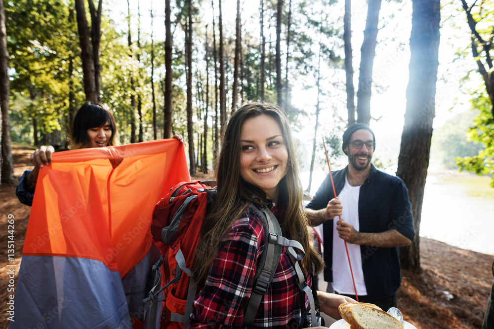
[[(327, 173), (315, 171), (311, 194)], [(302, 173), (304, 188), (309, 173)], [(494, 254), (494, 188), (489, 177), (455, 171), (427, 176), (420, 236), (449, 245)]]

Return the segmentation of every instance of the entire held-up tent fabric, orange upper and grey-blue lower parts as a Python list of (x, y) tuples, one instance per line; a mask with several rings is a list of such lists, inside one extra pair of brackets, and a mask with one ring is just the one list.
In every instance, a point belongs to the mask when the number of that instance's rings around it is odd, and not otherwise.
[(128, 328), (149, 275), (154, 206), (182, 181), (176, 139), (54, 153), (40, 170), (10, 327)]

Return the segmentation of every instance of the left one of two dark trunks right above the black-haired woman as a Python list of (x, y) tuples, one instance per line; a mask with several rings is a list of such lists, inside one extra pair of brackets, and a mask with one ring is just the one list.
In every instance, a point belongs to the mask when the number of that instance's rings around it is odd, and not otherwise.
[(97, 102), (98, 94), (96, 93), (96, 85), (94, 79), (93, 52), (89, 40), (89, 27), (87, 25), (84, 0), (75, 0), (75, 4), (76, 4), (76, 13), (77, 13), (77, 27), (79, 31), (79, 42), (81, 45), (84, 93), (86, 95), (86, 101)]

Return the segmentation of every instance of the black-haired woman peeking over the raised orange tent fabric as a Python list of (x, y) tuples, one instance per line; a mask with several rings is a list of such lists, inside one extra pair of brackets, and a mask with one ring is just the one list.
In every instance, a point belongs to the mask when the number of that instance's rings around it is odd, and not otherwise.
[[(101, 104), (85, 103), (77, 111), (70, 131), (70, 149), (119, 145), (117, 125), (112, 112)], [(19, 201), (31, 206), (40, 168), (51, 163), (53, 146), (41, 146), (31, 154), (33, 170), (26, 170), (19, 178), (15, 194)]]

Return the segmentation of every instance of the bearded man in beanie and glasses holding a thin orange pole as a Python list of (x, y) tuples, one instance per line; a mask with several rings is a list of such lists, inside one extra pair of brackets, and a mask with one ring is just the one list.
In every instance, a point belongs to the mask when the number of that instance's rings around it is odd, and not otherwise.
[(360, 302), (387, 311), (396, 307), (401, 284), (398, 247), (415, 235), (408, 190), (371, 164), (375, 136), (368, 125), (349, 126), (342, 148), (348, 166), (333, 173), (337, 198), (328, 175), (305, 212), (312, 226), (324, 223), (324, 279), (334, 292), (357, 299), (356, 290)]

